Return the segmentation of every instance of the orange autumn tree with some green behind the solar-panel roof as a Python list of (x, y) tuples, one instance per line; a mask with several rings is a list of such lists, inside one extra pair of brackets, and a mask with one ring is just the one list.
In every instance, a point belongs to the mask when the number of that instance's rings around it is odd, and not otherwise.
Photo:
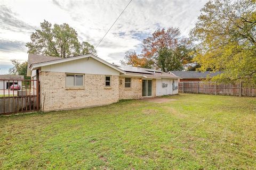
[(160, 69), (164, 72), (183, 70), (193, 58), (193, 45), (182, 38), (179, 28), (156, 30), (142, 41), (142, 52), (126, 52), (123, 64)]

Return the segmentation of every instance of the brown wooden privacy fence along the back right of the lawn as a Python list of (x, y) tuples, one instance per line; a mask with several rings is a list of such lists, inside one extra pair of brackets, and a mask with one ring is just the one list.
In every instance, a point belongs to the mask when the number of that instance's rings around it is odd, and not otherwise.
[(179, 92), (193, 94), (256, 96), (255, 87), (243, 87), (243, 83), (179, 82)]

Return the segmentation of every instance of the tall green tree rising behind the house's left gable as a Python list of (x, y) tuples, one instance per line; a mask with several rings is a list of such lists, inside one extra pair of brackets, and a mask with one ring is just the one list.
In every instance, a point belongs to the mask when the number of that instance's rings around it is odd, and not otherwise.
[(84, 41), (79, 43), (76, 30), (67, 23), (54, 24), (52, 27), (51, 23), (44, 20), (40, 25), (41, 29), (33, 32), (31, 41), (26, 44), (29, 54), (62, 58), (89, 53), (97, 55), (93, 45)]

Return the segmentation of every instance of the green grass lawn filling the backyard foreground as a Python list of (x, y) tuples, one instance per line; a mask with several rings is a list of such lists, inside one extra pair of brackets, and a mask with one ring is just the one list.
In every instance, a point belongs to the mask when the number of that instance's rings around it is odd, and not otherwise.
[(256, 98), (167, 98), (1, 116), (0, 169), (256, 169)]

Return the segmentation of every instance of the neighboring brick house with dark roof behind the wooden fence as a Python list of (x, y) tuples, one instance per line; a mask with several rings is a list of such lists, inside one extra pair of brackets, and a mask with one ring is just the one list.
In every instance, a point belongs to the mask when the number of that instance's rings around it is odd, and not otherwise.
[(208, 77), (212, 78), (215, 75), (221, 74), (221, 71), (217, 71), (217, 72), (170, 71), (170, 73), (180, 77), (179, 82), (185, 82), (185, 81), (202, 81)]

